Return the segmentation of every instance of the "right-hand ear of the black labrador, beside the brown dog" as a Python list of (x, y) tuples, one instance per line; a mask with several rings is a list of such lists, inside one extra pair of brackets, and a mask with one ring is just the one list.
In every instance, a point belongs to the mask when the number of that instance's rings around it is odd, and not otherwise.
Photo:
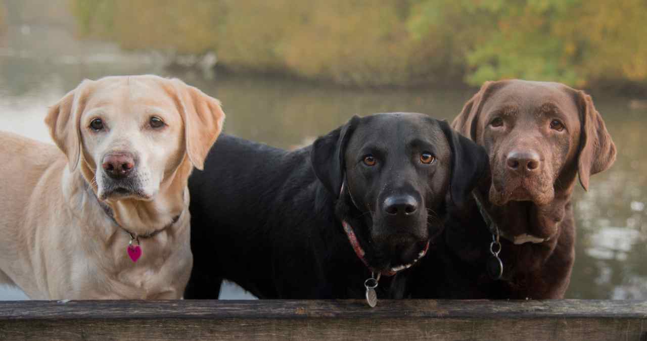
[(439, 121), (441, 129), (452, 151), (452, 173), (450, 175), (450, 195), (452, 202), (463, 206), (466, 199), (489, 169), (485, 148), (463, 137), (446, 121)]

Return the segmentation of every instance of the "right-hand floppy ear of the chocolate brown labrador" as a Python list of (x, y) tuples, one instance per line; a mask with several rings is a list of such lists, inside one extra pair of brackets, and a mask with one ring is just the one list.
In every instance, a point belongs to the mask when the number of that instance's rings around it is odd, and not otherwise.
[(602, 115), (593, 105), (591, 96), (584, 91), (576, 91), (580, 109), (580, 153), (578, 173), (584, 190), (589, 189), (589, 177), (611, 167), (615, 161), (615, 144), (604, 126)]

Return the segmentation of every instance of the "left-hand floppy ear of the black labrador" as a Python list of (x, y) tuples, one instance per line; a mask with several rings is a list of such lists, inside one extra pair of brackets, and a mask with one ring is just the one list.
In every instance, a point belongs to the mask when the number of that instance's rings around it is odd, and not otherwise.
[(339, 197), (342, 181), (344, 181), (346, 144), (359, 120), (359, 116), (353, 116), (344, 126), (317, 138), (313, 143), (310, 160), (314, 174), (335, 198)]

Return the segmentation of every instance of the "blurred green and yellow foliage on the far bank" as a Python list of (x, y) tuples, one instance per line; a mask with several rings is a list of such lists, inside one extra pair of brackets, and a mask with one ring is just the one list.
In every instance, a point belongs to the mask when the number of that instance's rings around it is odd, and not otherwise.
[(647, 83), (644, 0), (71, 0), (83, 34), (359, 85)]

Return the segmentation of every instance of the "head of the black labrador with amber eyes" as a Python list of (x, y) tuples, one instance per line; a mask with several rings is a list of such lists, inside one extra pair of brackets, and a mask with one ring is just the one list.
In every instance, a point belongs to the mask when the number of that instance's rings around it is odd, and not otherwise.
[(485, 149), (416, 113), (354, 116), (314, 142), (312, 163), (369, 267), (383, 272), (421, 258), (447, 204), (463, 204), (488, 167)]

